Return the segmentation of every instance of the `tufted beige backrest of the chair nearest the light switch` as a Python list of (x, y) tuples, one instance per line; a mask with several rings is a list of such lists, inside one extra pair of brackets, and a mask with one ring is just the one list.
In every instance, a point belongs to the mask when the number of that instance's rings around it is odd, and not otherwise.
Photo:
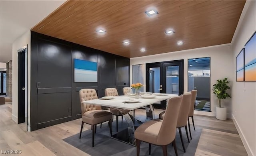
[[(80, 97), (80, 102), (92, 100), (92, 99), (98, 99), (95, 89), (81, 89), (79, 91), (79, 97)], [(81, 103), (82, 114), (92, 110), (101, 110), (101, 106)]]

